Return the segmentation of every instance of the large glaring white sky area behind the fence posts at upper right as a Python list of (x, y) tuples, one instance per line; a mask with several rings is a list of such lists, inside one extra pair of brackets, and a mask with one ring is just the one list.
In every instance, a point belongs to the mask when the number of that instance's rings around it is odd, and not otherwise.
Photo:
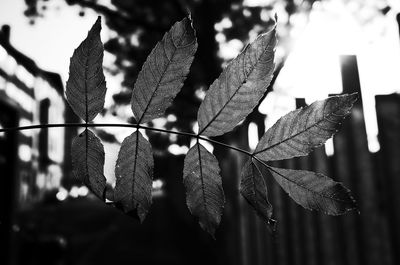
[(294, 41), (274, 90), (305, 98), (307, 104), (339, 94), (343, 89), (339, 56), (356, 55), (368, 148), (377, 152), (375, 96), (400, 92), (400, 42), (395, 12), (383, 16), (375, 6), (359, 6), (354, 9), (342, 0), (313, 5), (305, 28), (295, 29), (302, 33)]

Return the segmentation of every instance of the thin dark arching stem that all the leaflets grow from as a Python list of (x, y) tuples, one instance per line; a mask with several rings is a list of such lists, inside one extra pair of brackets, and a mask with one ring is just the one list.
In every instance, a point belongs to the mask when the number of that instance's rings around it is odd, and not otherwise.
[(130, 123), (54, 123), (54, 124), (36, 124), (36, 125), (28, 125), (28, 126), (20, 126), (20, 127), (10, 127), (10, 128), (0, 128), (0, 133), (2, 132), (12, 132), (12, 131), (23, 131), (23, 130), (32, 130), (32, 129), (46, 129), (46, 128), (57, 128), (57, 127), (63, 127), (63, 128), (78, 128), (78, 127), (125, 127), (125, 128), (136, 128), (136, 129), (144, 129), (144, 130), (149, 130), (149, 131), (155, 131), (155, 132), (161, 132), (161, 133), (169, 133), (169, 134), (177, 134), (181, 136), (187, 136), (187, 137), (192, 137), (196, 138), (197, 140), (204, 140), (219, 146), (223, 146), (235, 151), (238, 151), (240, 153), (246, 154), (248, 156), (252, 156), (252, 154), (246, 150), (240, 149), (235, 146), (231, 146), (213, 139), (209, 139), (207, 137), (197, 135), (194, 133), (188, 133), (188, 132), (179, 132), (179, 131), (171, 131), (167, 129), (161, 129), (161, 128), (154, 128), (154, 127), (148, 127), (140, 124), (130, 124)]

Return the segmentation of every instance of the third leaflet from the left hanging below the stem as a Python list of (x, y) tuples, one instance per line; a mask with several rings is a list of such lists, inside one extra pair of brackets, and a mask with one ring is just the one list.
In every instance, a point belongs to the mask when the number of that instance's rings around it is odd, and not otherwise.
[(218, 161), (197, 143), (184, 161), (183, 184), (190, 212), (199, 218), (200, 226), (213, 237), (221, 222), (225, 195)]

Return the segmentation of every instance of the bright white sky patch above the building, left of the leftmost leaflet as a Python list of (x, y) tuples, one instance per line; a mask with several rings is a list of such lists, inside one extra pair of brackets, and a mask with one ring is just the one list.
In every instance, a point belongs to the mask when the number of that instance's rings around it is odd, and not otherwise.
[(18, 50), (31, 57), (39, 67), (59, 73), (63, 81), (68, 77), (69, 58), (86, 37), (96, 20), (96, 14), (86, 12), (79, 17), (80, 9), (67, 6), (64, 1), (49, 5), (45, 18), (38, 18), (34, 25), (24, 16), (22, 0), (0, 0), (0, 25), (11, 27), (10, 41)]

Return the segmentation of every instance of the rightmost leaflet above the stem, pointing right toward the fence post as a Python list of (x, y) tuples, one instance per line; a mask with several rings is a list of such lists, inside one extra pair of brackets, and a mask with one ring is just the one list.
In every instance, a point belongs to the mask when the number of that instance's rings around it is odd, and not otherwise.
[(263, 135), (254, 155), (271, 161), (309, 154), (337, 132), (356, 100), (356, 93), (335, 96), (286, 114)]

